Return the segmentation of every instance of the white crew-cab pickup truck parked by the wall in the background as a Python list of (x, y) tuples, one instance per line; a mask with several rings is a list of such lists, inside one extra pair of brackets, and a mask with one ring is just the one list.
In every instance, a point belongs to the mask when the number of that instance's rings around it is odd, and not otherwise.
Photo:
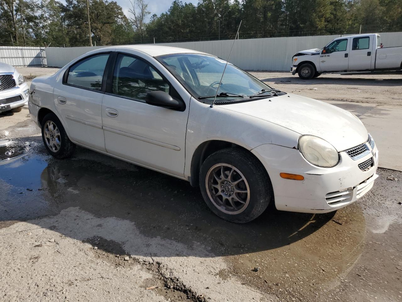
[(402, 69), (402, 46), (383, 48), (377, 33), (339, 37), (322, 49), (297, 52), (291, 73), (310, 80), (326, 72)]

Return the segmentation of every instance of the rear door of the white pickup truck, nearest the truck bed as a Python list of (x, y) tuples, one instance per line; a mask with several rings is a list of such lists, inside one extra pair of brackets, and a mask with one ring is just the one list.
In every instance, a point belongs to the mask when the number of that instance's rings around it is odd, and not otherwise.
[[(375, 54), (374, 54), (375, 55)], [(371, 68), (370, 36), (352, 39), (349, 56), (349, 70), (365, 70)]]

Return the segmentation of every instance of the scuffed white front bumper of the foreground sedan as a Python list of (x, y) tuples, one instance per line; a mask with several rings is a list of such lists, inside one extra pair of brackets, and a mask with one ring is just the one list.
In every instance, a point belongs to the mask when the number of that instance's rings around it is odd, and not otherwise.
[[(272, 182), (275, 207), (282, 211), (326, 213), (343, 208), (361, 198), (378, 177), (378, 151), (353, 160), (340, 152), (340, 162), (333, 168), (316, 167), (297, 149), (278, 145), (261, 145), (252, 153), (263, 163)], [(373, 155), (375, 154), (375, 155)], [(373, 166), (362, 171), (359, 163), (373, 158)], [(304, 180), (281, 178), (281, 172), (299, 174)]]

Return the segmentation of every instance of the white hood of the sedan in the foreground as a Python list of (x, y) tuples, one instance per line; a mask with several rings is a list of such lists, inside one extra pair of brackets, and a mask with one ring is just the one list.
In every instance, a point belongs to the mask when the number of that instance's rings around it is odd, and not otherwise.
[(220, 106), (271, 122), (299, 134), (310, 134), (328, 141), (340, 152), (367, 141), (363, 123), (349, 111), (334, 105), (286, 94), (244, 103)]

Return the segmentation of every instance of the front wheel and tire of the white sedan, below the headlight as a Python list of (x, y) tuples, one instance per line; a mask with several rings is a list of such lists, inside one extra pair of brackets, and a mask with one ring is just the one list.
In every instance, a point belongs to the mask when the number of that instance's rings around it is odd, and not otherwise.
[(209, 155), (201, 166), (199, 185), (209, 209), (236, 223), (256, 219), (273, 196), (264, 166), (240, 148), (222, 149)]

